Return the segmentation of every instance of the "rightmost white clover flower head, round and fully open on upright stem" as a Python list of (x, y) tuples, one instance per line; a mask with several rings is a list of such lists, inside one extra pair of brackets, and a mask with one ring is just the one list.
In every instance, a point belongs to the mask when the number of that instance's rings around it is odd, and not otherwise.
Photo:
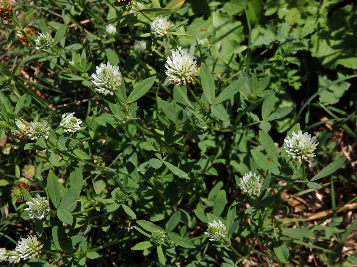
[(315, 137), (311, 137), (308, 132), (302, 133), (298, 131), (292, 133), (292, 137), (287, 137), (284, 140), (284, 148), (288, 157), (292, 157), (293, 161), (309, 161), (311, 157), (315, 157), (316, 146)]

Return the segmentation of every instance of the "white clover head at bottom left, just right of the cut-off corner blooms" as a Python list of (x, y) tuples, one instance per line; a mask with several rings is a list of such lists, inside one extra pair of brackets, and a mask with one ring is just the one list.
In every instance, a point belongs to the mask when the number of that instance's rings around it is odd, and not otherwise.
[(19, 252), (19, 255), (24, 260), (34, 260), (36, 257), (40, 257), (41, 248), (44, 245), (41, 245), (41, 242), (37, 240), (37, 236), (28, 235), (27, 238), (21, 238), (17, 242), (15, 248)]

